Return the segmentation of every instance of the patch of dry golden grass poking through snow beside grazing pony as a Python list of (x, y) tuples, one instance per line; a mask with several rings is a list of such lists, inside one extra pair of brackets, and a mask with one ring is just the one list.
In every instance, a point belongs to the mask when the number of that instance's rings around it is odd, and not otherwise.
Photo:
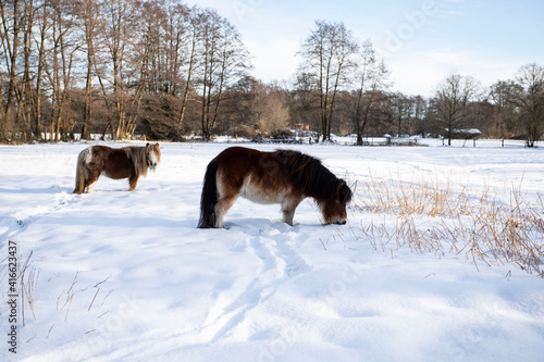
[(351, 226), (376, 250), (394, 242), (438, 257), (455, 253), (477, 269), (478, 263), (514, 263), (544, 277), (544, 202), (540, 194), (536, 202), (526, 200), (521, 183), (500, 194), (489, 186), (454, 190), (450, 183), (371, 175), (358, 183), (355, 210), (383, 215), (383, 223)]

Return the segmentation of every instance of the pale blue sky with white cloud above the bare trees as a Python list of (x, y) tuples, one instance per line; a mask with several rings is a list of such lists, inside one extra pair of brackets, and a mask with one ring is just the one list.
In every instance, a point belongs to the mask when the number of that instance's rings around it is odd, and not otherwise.
[(542, 0), (188, 0), (215, 9), (236, 26), (251, 54), (251, 75), (288, 80), (316, 20), (342, 22), (370, 39), (392, 72), (392, 90), (432, 96), (449, 74), (484, 89), (515, 77), (524, 64), (544, 66)]

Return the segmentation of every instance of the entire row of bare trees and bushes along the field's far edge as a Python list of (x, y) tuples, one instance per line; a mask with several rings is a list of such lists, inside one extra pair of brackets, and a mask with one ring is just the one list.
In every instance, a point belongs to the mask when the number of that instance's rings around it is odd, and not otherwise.
[(0, 2), (0, 140), (145, 135), (282, 137), (288, 128), (363, 136), (479, 128), (534, 145), (544, 129), (544, 70), (522, 66), (484, 90), (450, 74), (433, 97), (391, 91), (369, 40), (317, 21), (292, 79), (250, 76), (236, 28), (214, 10), (175, 0)]

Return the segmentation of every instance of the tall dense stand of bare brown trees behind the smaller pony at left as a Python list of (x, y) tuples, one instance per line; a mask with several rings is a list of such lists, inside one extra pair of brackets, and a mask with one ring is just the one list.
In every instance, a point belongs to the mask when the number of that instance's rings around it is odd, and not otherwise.
[(168, 0), (7, 0), (0, 135), (178, 138), (218, 123), (249, 68), (235, 27)]

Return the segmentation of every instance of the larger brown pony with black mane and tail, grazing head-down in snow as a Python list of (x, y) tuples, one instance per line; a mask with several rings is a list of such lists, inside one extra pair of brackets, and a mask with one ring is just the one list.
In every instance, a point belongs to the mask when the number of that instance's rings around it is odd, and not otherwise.
[(283, 221), (292, 226), (295, 209), (311, 197), (325, 224), (343, 225), (353, 192), (346, 182), (308, 154), (232, 147), (208, 164), (198, 227), (223, 227), (223, 216), (238, 196), (259, 203), (280, 203)]

